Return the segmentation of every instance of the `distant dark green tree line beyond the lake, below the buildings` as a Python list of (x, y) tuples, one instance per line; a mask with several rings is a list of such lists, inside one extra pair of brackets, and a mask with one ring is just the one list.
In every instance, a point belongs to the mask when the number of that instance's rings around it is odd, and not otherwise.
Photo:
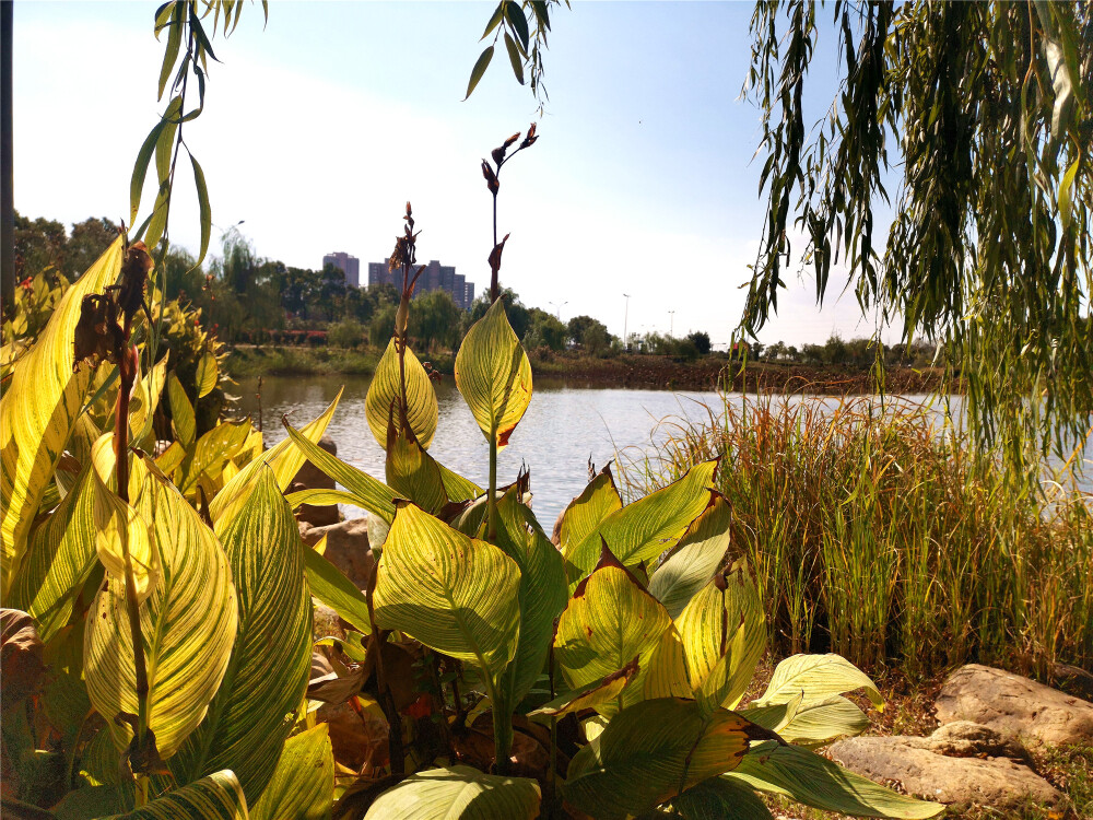
[[(15, 214), (15, 268), (20, 280), (54, 269), (77, 279), (117, 236), (108, 219), (87, 219), (66, 231), (60, 222), (31, 220)], [(331, 344), (353, 348), (386, 347), (395, 331), (398, 292), (389, 284), (351, 288), (340, 268), (293, 268), (255, 253), (235, 229), (222, 237), (222, 255), (207, 266), (195, 265), (181, 248), (166, 256), (166, 296), (179, 297), (201, 308), (205, 328), (223, 342)], [(508, 319), (524, 347), (533, 356), (548, 358), (567, 350), (595, 356), (624, 352), (622, 340), (591, 316), (574, 316), (567, 323), (539, 307), (525, 305), (510, 289), (502, 293)], [(480, 296), (470, 311), (462, 311), (446, 291), (428, 291), (414, 298), (410, 336), (420, 350), (455, 351), (474, 321), (489, 307)], [(698, 330), (683, 337), (657, 332), (631, 333), (626, 352), (666, 355), (694, 361), (710, 355), (709, 335)], [(725, 355), (740, 359), (737, 345)], [(867, 367), (877, 359), (871, 339), (844, 341), (833, 335), (824, 344), (787, 345), (781, 341), (764, 347), (747, 345), (751, 361)], [(935, 347), (918, 343), (885, 349), (886, 364), (929, 364)]]

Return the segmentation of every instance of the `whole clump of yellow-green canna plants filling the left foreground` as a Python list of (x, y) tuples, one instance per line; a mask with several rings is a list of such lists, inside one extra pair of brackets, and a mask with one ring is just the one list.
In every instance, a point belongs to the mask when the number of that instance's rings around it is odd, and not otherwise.
[[(483, 162), (495, 225), (502, 166), (534, 129), (508, 154), (519, 139)], [(489, 487), (430, 455), (436, 395), (407, 335), (409, 203), (404, 223), (395, 335), (365, 408), (384, 480), (317, 445), (338, 399), (299, 430), (285, 420), (270, 449), (248, 422), (198, 437), (162, 360), (140, 373), (151, 260), (125, 236), (14, 362), (0, 401), (5, 812), (764, 818), (765, 792), (865, 817), (938, 813), (814, 752), (868, 726), (847, 693), (881, 704), (846, 660), (787, 658), (742, 703), (767, 631), (713, 489), (731, 465), (695, 465), (628, 505), (604, 468), (556, 543), (530, 476), (502, 484), (497, 453), (532, 396), (497, 297), (507, 236), (490, 256), (493, 304), (456, 360)], [(96, 385), (111, 379), (114, 413), (96, 422)], [(169, 440), (149, 432), (164, 390)], [(286, 496), (305, 458), (342, 489)], [(305, 503), (367, 511), (366, 589), (302, 542), (292, 511)], [(316, 642), (333, 671), (312, 673), (316, 600), (349, 629)], [(336, 760), (322, 702), (381, 715), (386, 759)]]

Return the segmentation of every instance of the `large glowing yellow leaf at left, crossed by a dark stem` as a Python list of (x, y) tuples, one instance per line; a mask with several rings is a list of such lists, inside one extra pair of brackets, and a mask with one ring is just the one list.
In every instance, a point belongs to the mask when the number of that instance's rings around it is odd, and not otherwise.
[[(141, 605), (141, 640), (149, 726), (166, 760), (204, 718), (220, 687), (238, 610), (232, 571), (216, 536), (156, 471), (149, 470), (148, 482), (137, 508), (150, 522), (163, 577)], [(131, 731), (114, 716), (137, 714), (137, 681), (125, 587), (113, 578), (87, 614), (84, 675), (91, 702), (106, 718), (116, 747), (125, 749)]]

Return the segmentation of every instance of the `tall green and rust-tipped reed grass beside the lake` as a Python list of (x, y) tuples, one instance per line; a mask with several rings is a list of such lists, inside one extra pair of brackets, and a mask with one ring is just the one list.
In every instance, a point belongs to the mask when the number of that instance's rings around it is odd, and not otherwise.
[(1093, 496), (1007, 480), (907, 401), (725, 397), (619, 454), (636, 496), (720, 455), (733, 550), (780, 654), (929, 676), (968, 661), (1093, 665)]

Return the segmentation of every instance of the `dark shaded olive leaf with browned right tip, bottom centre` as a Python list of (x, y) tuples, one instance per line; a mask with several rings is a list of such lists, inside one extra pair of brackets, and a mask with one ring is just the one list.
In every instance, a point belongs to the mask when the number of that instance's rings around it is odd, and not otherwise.
[(612, 717), (574, 755), (563, 795), (597, 820), (640, 815), (732, 771), (749, 740), (764, 734), (733, 712), (704, 715), (694, 701), (643, 701)]

